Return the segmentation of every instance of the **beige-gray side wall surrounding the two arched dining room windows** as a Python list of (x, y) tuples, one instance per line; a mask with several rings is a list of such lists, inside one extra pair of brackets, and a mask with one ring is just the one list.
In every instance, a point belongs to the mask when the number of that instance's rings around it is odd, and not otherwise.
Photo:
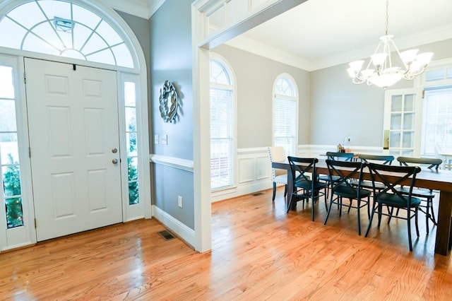
[(273, 85), (281, 73), (289, 73), (297, 83), (298, 143), (309, 143), (309, 72), (227, 45), (212, 52), (224, 57), (237, 77), (237, 148), (273, 144)]

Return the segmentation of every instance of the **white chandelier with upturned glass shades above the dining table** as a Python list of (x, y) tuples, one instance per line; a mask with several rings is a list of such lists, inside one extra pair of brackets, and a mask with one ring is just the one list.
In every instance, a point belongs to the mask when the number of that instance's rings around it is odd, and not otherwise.
[[(412, 80), (425, 71), (427, 65), (432, 59), (433, 52), (424, 52), (418, 54), (419, 49), (410, 49), (399, 52), (393, 41), (393, 35), (388, 35), (388, 0), (386, 0), (386, 33), (380, 37), (379, 45), (374, 54), (369, 59), (366, 69), (362, 70), (363, 60), (352, 61), (347, 69), (352, 82), (367, 83), (367, 85), (377, 85), (381, 88), (387, 88), (404, 78)], [(391, 49), (398, 54), (398, 59), (402, 66), (393, 66), (391, 59)], [(371, 64), (373, 65), (371, 67)]]

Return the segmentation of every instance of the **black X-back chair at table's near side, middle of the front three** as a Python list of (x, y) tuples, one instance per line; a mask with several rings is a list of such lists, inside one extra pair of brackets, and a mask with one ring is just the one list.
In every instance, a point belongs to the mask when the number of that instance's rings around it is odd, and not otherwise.
[[(342, 216), (342, 207), (347, 206), (350, 213), (351, 208), (357, 209), (358, 219), (358, 235), (361, 235), (361, 208), (367, 206), (367, 218), (370, 218), (370, 195), (371, 191), (368, 189), (362, 189), (360, 183), (362, 182), (362, 170), (365, 166), (363, 162), (348, 162), (337, 160), (326, 160), (328, 167), (328, 175), (332, 179), (330, 182), (331, 198), (328, 205), (328, 212), (326, 213), (325, 221), (326, 225), (328, 216), (330, 216), (331, 208), (333, 204), (336, 204), (339, 209), (339, 216)], [(343, 167), (346, 167), (344, 170)], [(352, 179), (357, 179), (357, 185), (352, 185)], [(343, 199), (348, 199), (350, 203), (343, 204)], [(356, 201), (356, 205), (353, 204), (353, 200)]]

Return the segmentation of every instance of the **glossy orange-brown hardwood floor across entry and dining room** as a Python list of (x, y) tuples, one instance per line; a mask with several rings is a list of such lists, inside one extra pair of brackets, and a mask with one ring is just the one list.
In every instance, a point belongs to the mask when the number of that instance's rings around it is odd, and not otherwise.
[[(285, 213), (283, 190), (213, 203), (212, 251), (165, 241), (138, 220), (0, 254), (1, 300), (452, 300), (451, 256), (436, 230), (408, 251), (392, 220), (357, 235), (357, 216), (311, 204)], [(362, 230), (367, 214), (362, 211)], [(413, 230), (414, 232), (414, 230)], [(414, 235), (415, 237), (415, 235)]]

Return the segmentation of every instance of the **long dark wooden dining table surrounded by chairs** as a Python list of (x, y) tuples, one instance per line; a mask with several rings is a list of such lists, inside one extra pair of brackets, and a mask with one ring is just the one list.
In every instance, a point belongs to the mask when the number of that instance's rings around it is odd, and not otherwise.
[[(288, 207), (292, 198), (292, 172), (290, 172), (289, 161), (279, 161), (272, 163), (273, 168), (287, 170), (287, 202)], [(316, 163), (316, 175), (328, 175), (328, 167), (325, 159), (319, 159)], [(396, 175), (388, 173), (388, 177), (393, 177), (394, 181), (399, 179)], [(371, 180), (368, 167), (364, 167), (362, 179)], [(410, 179), (405, 179), (400, 184), (410, 184)], [(415, 186), (420, 188), (439, 191), (439, 208), (436, 225), (435, 253), (448, 255), (452, 247), (452, 170), (434, 170), (422, 168), (416, 175)], [(292, 202), (290, 210), (295, 211), (297, 202)]]

